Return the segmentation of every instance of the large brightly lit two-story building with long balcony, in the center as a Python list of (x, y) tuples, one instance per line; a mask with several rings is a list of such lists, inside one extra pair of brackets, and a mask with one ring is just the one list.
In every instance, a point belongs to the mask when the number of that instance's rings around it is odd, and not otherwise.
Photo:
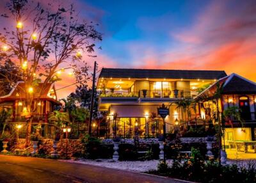
[(226, 76), (219, 70), (102, 68), (97, 90), (99, 110), (109, 113), (106, 137), (163, 134), (163, 119), (157, 116), (161, 104), (170, 107), (165, 122), (166, 132), (171, 132), (175, 121), (184, 118), (174, 102), (196, 97), (200, 88)]

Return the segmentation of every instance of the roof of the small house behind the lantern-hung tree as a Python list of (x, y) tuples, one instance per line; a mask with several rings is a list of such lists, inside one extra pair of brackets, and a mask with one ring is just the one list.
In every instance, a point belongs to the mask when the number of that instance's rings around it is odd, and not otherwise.
[[(47, 83), (43, 86), (44, 83), (39, 83), (38, 86), (33, 87), (33, 97), (40, 99), (52, 100), (53, 102), (57, 102), (56, 91), (54, 84)], [(43, 89), (42, 89), (43, 88)], [(0, 102), (5, 100), (16, 100), (16, 99), (25, 99), (26, 98), (26, 86), (23, 81), (17, 82), (13, 87), (12, 91), (8, 95), (4, 95), (0, 97)], [(41, 92), (42, 90), (42, 92)], [(40, 94), (41, 93), (41, 94)]]

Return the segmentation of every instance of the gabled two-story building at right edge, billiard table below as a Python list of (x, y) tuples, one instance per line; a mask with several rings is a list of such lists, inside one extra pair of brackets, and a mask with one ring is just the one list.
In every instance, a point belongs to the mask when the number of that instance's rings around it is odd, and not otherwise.
[[(223, 77), (218, 83), (222, 86), (220, 111), (236, 106), (235, 109), (239, 110), (241, 116), (240, 120), (232, 116), (232, 118), (226, 120), (225, 141), (223, 141), (223, 145), (227, 148), (236, 147), (237, 150), (241, 150), (243, 147), (244, 152), (247, 152), (248, 147), (250, 147), (252, 152), (256, 152), (256, 148), (252, 147), (256, 145), (256, 83), (237, 74)], [(218, 87), (216, 84), (209, 86), (196, 98), (202, 95), (211, 96)], [(205, 111), (213, 112), (213, 107), (214, 104), (212, 104), (211, 100), (202, 102), (201, 115), (202, 113), (205, 115)], [(207, 115), (211, 116), (212, 113)]]

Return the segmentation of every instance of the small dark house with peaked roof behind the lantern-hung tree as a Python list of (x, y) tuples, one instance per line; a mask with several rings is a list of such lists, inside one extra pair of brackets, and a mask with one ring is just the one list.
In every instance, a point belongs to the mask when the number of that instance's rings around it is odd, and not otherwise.
[[(8, 95), (0, 97), (0, 110), (12, 109), (12, 121), (11, 125), (26, 124), (26, 116), (22, 115), (24, 110), (26, 111), (25, 100), (26, 92), (25, 83), (19, 81)], [(42, 134), (47, 131), (45, 125), (48, 124), (47, 115), (53, 111), (54, 106), (61, 105), (57, 100), (54, 84), (47, 83), (43, 86), (43, 83), (39, 83), (38, 86), (33, 88), (33, 122), (32, 125), (40, 123), (42, 125)]]

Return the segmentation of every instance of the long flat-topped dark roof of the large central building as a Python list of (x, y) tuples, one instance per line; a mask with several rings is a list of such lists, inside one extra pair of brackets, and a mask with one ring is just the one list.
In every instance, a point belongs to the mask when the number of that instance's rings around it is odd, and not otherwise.
[(102, 68), (99, 77), (150, 78), (150, 79), (220, 79), (227, 74), (223, 70), (161, 70), (138, 68)]

